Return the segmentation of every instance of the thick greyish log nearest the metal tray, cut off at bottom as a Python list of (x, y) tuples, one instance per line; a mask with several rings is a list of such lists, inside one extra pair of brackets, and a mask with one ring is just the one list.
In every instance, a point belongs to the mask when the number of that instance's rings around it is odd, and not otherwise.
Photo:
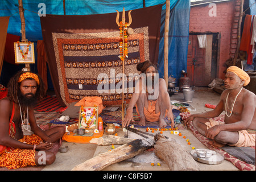
[(171, 171), (199, 171), (197, 162), (175, 139), (155, 135), (155, 155), (167, 163)]

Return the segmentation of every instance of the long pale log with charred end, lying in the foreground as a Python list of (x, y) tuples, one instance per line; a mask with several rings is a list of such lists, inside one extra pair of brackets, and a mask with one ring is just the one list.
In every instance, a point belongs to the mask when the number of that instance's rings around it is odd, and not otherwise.
[(72, 171), (100, 171), (111, 164), (133, 158), (143, 151), (154, 146), (152, 140), (137, 139), (133, 142), (123, 144), (112, 151), (102, 153), (96, 157), (86, 160), (84, 163), (74, 167)]

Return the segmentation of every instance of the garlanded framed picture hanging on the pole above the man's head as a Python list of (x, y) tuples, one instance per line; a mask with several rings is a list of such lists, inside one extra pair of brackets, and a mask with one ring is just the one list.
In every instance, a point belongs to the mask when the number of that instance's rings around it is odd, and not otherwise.
[(14, 52), (16, 64), (35, 63), (34, 43), (15, 42)]

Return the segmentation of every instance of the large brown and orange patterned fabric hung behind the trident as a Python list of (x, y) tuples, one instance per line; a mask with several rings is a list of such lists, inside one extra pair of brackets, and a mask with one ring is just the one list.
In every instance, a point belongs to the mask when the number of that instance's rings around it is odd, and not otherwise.
[[(125, 59), (127, 103), (138, 80), (137, 64), (144, 60), (158, 62), (161, 10), (162, 5), (156, 5), (131, 11), (130, 27), (134, 34), (128, 37)], [(104, 106), (122, 104), (122, 61), (118, 57), (116, 16), (111, 13), (41, 17), (49, 71), (61, 105), (67, 106), (85, 96), (100, 96)], [(126, 22), (129, 22), (127, 12)], [(103, 77), (98, 79), (100, 74)]]

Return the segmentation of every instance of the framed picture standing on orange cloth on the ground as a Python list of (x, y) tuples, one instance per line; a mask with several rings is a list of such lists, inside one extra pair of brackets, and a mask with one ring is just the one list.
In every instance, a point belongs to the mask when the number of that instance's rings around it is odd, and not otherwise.
[(80, 107), (79, 128), (94, 131), (98, 129), (98, 107)]

